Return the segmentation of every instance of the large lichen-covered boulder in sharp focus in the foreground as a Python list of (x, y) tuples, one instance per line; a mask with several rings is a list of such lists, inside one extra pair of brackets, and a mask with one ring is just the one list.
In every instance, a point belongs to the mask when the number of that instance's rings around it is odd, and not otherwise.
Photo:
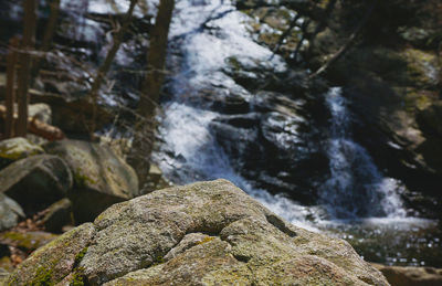
[[(288, 224), (225, 180), (118, 203), (36, 251), (13, 285), (388, 285), (341, 240)], [(80, 284), (75, 284), (80, 285)]]

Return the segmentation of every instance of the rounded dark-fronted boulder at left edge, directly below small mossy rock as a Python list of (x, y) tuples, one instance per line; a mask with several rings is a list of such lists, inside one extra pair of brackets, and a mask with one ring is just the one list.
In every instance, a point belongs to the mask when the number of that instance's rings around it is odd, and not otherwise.
[(28, 214), (64, 198), (71, 187), (67, 165), (56, 156), (36, 155), (0, 171), (0, 193), (14, 199)]

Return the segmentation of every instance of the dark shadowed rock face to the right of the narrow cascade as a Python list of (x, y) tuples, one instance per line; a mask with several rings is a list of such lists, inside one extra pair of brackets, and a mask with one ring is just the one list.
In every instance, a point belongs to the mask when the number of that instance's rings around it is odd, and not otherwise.
[[(367, 8), (361, 1), (335, 7), (327, 28), (311, 42), (306, 64), (312, 70), (345, 44)], [(434, 13), (431, 1), (378, 2), (355, 45), (324, 74), (344, 86), (355, 141), (386, 176), (404, 182), (407, 206), (432, 218), (440, 216), (442, 167), (438, 127), (430, 123), (438, 117), (441, 96)], [(412, 192), (427, 197), (425, 202), (414, 200)]]

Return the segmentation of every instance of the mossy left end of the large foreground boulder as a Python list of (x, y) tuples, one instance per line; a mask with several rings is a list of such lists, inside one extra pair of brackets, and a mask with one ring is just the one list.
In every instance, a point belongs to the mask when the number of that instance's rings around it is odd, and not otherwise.
[(92, 223), (83, 224), (36, 250), (8, 276), (4, 285), (55, 285), (78, 263), (78, 254), (95, 233)]

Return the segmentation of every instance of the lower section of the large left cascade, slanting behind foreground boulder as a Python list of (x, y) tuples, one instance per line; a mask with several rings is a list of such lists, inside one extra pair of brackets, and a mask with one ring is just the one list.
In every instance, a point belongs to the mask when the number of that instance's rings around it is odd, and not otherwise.
[(228, 156), (210, 134), (209, 124), (214, 116), (211, 112), (185, 104), (172, 103), (167, 106), (160, 134), (168, 142), (169, 152), (173, 155), (155, 155), (165, 174), (179, 183), (228, 179), (276, 214), (314, 230), (312, 225), (305, 224), (305, 218), (313, 215), (312, 209), (296, 204), (283, 195), (273, 195), (256, 189), (233, 170)]

